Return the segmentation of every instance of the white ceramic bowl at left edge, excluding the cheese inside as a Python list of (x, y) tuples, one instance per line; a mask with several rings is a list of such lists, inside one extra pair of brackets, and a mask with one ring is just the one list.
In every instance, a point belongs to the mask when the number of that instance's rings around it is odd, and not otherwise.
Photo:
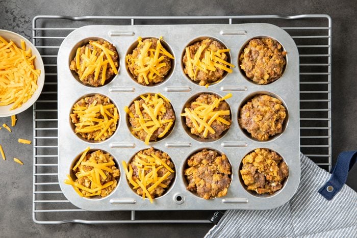
[(10, 31), (6, 31), (6, 30), (0, 30), (0, 36), (2, 36), (7, 41), (12, 40), (17, 45), (17, 47), (21, 47), (21, 40), (23, 40), (26, 43), (26, 48), (28, 49), (30, 47), (32, 50), (32, 55), (36, 56), (35, 61), (34, 61), (35, 68), (41, 70), (40, 76), (37, 79), (38, 88), (27, 102), (23, 103), (21, 105), (21, 107), (14, 109), (14, 110), (10, 110), (10, 108), (12, 107), (12, 104), (6, 105), (6, 106), (0, 106), (0, 117), (8, 117), (11, 115), (19, 114), (19, 113), (25, 111), (26, 109), (30, 108), (32, 106), (32, 104), (34, 104), (35, 101), (37, 100), (37, 98), (40, 96), (43, 85), (44, 85), (44, 66), (43, 66), (43, 61), (42, 61), (40, 53), (28, 39), (24, 38), (23, 36), (21, 36), (19, 34), (16, 34), (14, 32), (10, 32)]

